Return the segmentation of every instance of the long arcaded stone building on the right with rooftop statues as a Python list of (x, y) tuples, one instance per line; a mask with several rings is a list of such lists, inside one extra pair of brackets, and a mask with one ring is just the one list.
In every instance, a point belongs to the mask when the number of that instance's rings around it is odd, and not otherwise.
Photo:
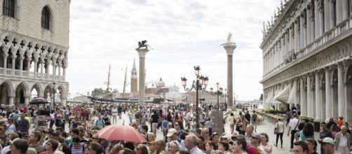
[(264, 108), (352, 118), (352, 1), (290, 0), (263, 25)]

